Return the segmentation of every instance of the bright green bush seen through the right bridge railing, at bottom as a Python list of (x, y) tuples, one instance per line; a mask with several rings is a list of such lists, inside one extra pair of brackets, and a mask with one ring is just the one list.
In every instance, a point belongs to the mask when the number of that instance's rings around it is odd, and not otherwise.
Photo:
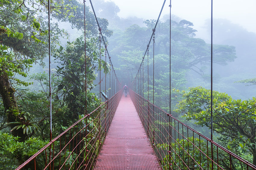
[[(221, 149), (218, 149), (213, 145), (213, 160), (214, 164), (210, 160), (211, 158), (211, 145), (208, 144), (204, 139), (198, 139), (189, 137), (187, 139), (181, 138), (176, 139), (171, 143), (171, 158), (169, 154), (162, 154), (163, 160), (161, 160), (161, 165), (164, 170), (169, 169), (169, 161), (172, 164), (173, 169), (211, 169), (213, 166), (214, 170), (220, 169), (215, 163), (225, 170), (230, 169), (230, 158), (229, 154)], [(156, 148), (161, 151), (165, 151), (169, 148), (167, 144), (156, 145)], [(218, 155), (217, 155), (218, 153)], [(210, 157), (209, 159), (206, 157)], [(240, 155), (241, 156), (241, 155)], [(248, 158), (248, 157), (247, 157)], [(217, 161), (218, 159), (218, 161)], [(194, 161), (195, 160), (195, 161)], [(246, 160), (249, 160), (246, 159)], [(243, 165), (236, 159), (231, 159), (232, 169), (245, 169), (246, 166)]]

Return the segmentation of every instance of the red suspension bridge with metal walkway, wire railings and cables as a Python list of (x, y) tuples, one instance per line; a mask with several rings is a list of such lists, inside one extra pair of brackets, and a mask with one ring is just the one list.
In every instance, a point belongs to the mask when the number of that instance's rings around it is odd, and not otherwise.
[[(164, 4), (165, 2), (166, 0), (164, 0)], [(49, 3), (50, 1), (48, 1), (48, 7)], [(99, 28), (100, 44), (102, 38), (106, 49), (105, 58), (107, 58), (107, 46), (91, 0), (90, 3)], [(171, 12), (171, 1), (169, 6)], [(48, 22), (50, 22), (50, 13), (48, 16)], [(154, 93), (152, 103), (144, 97), (144, 60), (146, 54), (148, 56), (149, 44), (153, 40), (154, 62), (155, 31), (160, 16), (161, 12), (155, 28), (152, 29), (152, 35), (137, 75), (129, 86), (128, 97), (123, 95), (121, 83), (117, 79), (111, 57), (108, 54), (112, 67), (112, 95), (109, 93), (109, 96), (112, 97), (106, 99), (93, 112), (85, 115), (56, 138), (52, 139), (52, 134), (50, 134), (50, 142), (16, 170), (256, 170), (256, 166), (214, 142), (212, 131), (211, 139), (209, 139), (173, 117), (170, 112), (167, 113), (155, 106)], [(49, 28), (49, 61), (50, 48)], [(50, 65), (49, 69), (51, 70)], [(105, 77), (107, 76), (105, 75)], [(136, 81), (140, 81), (140, 88), (136, 85)], [(51, 87), (51, 79), (49, 85)], [(50, 128), (52, 127), (50, 126)]]

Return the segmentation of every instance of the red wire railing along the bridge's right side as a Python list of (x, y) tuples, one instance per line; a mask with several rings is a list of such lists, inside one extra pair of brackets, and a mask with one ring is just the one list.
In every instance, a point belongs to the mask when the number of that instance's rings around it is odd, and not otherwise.
[(256, 166), (130, 90), (162, 169), (256, 170)]

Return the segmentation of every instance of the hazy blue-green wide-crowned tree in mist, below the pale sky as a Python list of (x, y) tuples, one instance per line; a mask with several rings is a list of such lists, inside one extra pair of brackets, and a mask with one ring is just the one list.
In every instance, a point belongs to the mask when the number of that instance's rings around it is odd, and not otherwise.
[[(132, 25), (127, 28), (118, 38), (119, 43), (113, 49), (120, 55), (122, 51), (141, 50), (147, 47), (148, 40), (155, 26), (155, 20), (146, 20), (146, 28)], [(204, 67), (210, 63), (210, 44), (205, 43), (200, 38), (195, 38), (195, 32), (191, 26), (193, 24), (186, 20), (179, 23), (172, 21), (171, 26), (171, 55), (173, 71), (190, 69), (200, 75), (204, 75)], [(158, 22), (155, 32), (155, 54), (169, 54), (169, 21)], [(151, 46), (149, 47), (152, 49)], [(226, 65), (236, 58), (235, 47), (228, 45), (214, 44), (214, 63)], [(118, 54), (119, 53), (119, 54)]]

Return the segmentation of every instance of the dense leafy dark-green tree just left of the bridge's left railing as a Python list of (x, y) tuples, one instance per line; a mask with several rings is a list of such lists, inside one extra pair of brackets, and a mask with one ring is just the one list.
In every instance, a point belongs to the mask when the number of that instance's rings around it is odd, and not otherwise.
[[(100, 55), (98, 51), (95, 50), (96, 40), (87, 39), (86, 43), (86, 70), (85, 70), (85, 57), (84, 57), (84, 41), (82, 37), (77, 38), (74, 42), (68, 42), (65, 49), (60, 46), (54, 57), (58, 60), (59, 66), (55, 76), (58, 76), (57, 80), (58, 89), (56, 94), (58, 94), (58, 99), (62, 100), (62, 106), (67, 106), (68, 112), (66, 113), (67, 120), (76, 121), (79, 115), (86, 115), (85, 106), (92, 105), (94, 101), (98, 100), (87, 100), (85, 98), (85, 91), (89, 94), (89, 91), (94, 87), (93, 80), (97, 76), (95, 70), (101, 69), (105, 72), (109, 72), (109, 65), (101, 59), (101, 66), (98, 67)], [(103, 55), (104, 50), (101, 51)], [(106, 70), (105, 70), (105, 64)], [(85, 71), (86, 71), (86, 81), (87, 89), (85, 87)], [(96, 99), (96, 98), (95, 98)], [(96, 103), (98, 106), (100, 103)], [(90, 107), (88, 107), (90, 108)], [(88, 112), (92, 112), (94, 107), (88, 109)], [(65, 120), (63, 120), (66, 122)], [(72, 125), (64, 123), (63, 126)]]

